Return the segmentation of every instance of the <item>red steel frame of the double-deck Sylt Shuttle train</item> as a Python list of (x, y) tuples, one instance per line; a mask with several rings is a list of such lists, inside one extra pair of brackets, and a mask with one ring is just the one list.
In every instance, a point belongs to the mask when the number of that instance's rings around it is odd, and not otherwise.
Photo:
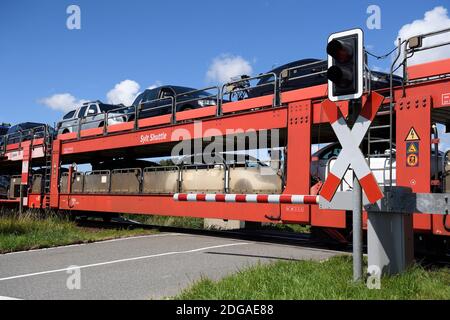
[[(436, 65), (436, 64), (440, 65)], [(427, 74), (427, 64), (415, 66), (416, 77)], [(450, 59), (434, 62), (433, 75), (436, 70), (441, 74), (450, 74)], [(441, 67), (439, 69), (439, 67)], [(430, 128), (433, 110), (450, 109), (450, 80), (448, 78), (423, 81), (409, 85), (403, 91), (395, 88), (396, 100), (396, 140), (397, 140), (397, 182), (400, 186), (411, 187), (415, 192), (430, 192)], [(223, 105), (223, 116), (215, 117), (214, 110), (190, 110), (177, 114), (177, 119), (202, 119), (199, 131), (193, 122), (171, 125), (170, 118), (141, 120), (139, 131), (129, 124), (124, 127), (109, 129), (114, 134), (103, 135), (102, 132), (82, 132), (81, 140), (76, 135), (60, 135), (54, 141), (52, 151), (52, 179), (50, 194), (29, 194), (28, 206), (41, 208), (48, 201), (51, 208), (59, 210), (94, 211), (130, 214), (152, 214), (168, 216), (191, 216), (200, 218), (220, 218), (257, 222), (282, 222), (310, 224), (317, 227), (346, 227), (346, 213), (343, 211), (320, 210), (317, 205), (265, 204), (265, 203), (206, 203), (176, 202), (173, 195), (102, 195), (102, 194), (69, 194), (67, 190), (59, 190), (59, 171), (62, 157), (72, 155), (89, 155), (91, 152), (116, 150), (143, 145), (161, 145), (172, 141), (172, 134), (177, 129), (189, 132), (193, 139), (227, 135), (227, 130), (269, 130), (285, 129), (287, 132), (287, 177), (284, 194), (310, 194), (311, 143), (314, 126), (328, 123), (321, 103), (326, 99), (327, 86), (320, 85), (306, 89), (289, 91), (281, 94), (281, 107), (271, 108), (273, 96), (230, 102)], [(386, 99), (388, 100), (388, 99)], [(385, 101), (387, 103), (387, 101)], [(267, 108), (263, 108), (267, 107)], [(259, 108), (258, 110), (254, 110)], [(348, 114), (348, 104), (340, 103), (339, 108)], [(241, 113), (237, 113), (241, 112)], [(450, 112), (448, 113), (450, 120)], [(145, 123), (144, 123), (145, 122)], [(445, 122), (445, 119), (442, 119)], [(414, 127), (421, 140), (420, 166), (408, 167), (406, 164), (406, 142), (411, 127)], [(209, 129), (215, 129), (214, 133)], [(145, 136), (158, 136), (158, 139), (142, 140)], [(176, 138), (178, 139), (178, 138)], [(7, 161), (23, 161), (25, 169), (27, 159), (38, 158), (36, 150), (42, 148), (42, 141), (33, 143), (35, 149), (28, 151), (27, 144), (21, 147), (8, 146)], [(1, 165), (1, 162), (0, 162)], [(25, 175), (25, 173), (23, 173)], [(25, 177), (25, 176), (23, 176)], [(69, 179), (70, 180), (70, 179)], [(25, 180), (24, 180), (25, 181)], [(416, 230), (447, 235), (442, 216), (415, 215)]]

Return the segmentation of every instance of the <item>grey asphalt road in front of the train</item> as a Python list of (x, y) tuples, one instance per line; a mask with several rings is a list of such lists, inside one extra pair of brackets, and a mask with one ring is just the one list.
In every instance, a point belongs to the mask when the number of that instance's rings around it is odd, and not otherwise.
[[(158, 299), (258, 262), (336, 252), (163, 233), (0, 255), (0, 299)], [(77, 267), (77, 268), (75, 268)]]

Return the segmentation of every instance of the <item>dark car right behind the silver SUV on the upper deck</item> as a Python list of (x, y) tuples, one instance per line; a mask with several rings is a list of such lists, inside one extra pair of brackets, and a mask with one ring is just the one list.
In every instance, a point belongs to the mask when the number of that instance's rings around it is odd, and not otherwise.
[(176, 97), (176, 112), (199, 109), (217, 105), (217, 94), (181, 86), (161, 86), (147, 89), (133, 102), (134, 107), (141, 106), (139, 118), (149, 118), (172, 113)]

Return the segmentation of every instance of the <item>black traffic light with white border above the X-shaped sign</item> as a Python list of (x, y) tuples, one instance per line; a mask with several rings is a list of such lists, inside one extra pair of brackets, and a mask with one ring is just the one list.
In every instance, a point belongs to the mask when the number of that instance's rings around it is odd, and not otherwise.
[(328, 96), (332, 101), (359, 99), (363, 94), (364, 48), (361, 29), (328, 39)]

